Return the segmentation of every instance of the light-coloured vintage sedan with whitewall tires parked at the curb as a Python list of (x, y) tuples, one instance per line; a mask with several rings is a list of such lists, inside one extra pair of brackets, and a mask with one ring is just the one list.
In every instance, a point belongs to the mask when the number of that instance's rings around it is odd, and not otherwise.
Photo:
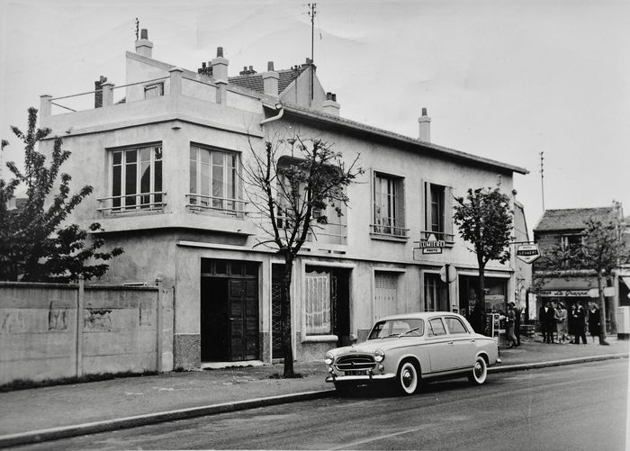
[(324, 362), (326, 382), (339, 392), (389, 381), (411, 394), (421, 381), (435, 378), (465, 375), (482, 384), (498, 359), (497, 340), (475, 333), (463, 316), (428, 311), (378, 320), (367, 341), (332, 349)]

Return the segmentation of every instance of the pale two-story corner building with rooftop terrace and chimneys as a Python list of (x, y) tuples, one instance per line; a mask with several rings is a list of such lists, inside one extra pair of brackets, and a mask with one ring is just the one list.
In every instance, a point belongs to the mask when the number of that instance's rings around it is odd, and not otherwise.
[[(94, 185), (70, 220), (100, 222), (107, 245), (124, 248), (103, 281), (160, 277), (174, 288), (175, 368), (282, 358), (282, 260), (257, 246), (261, 224), (242, 173), (266, 140), (296, 133), (334, 143), (348, 161), (359, 153), (365, 169), (347, 188), (344, 214), (321, 225), (296, 261), (296, 358), (365, 338), (383, 315), (468, 313), (477, 266), (454, 230), (453, 195), (498, 180), (509, 194), (526, 169), (431, 142), (426, 112), (416, 138), (341, 117), (308, 59), (229, 77), (221, 48), (196, 71), (153, 59), (152, 48), (143, 31), (126, 54), (125, 85), (102, 77), (94, 108), (58, 111), (65, 98), (43, 95), (40, 122), (72, 152), (64, 169), (73, 184)], [(522, 289), (515, 267), (491, 262), (486, 277), (488, 307), (505, 310)]]

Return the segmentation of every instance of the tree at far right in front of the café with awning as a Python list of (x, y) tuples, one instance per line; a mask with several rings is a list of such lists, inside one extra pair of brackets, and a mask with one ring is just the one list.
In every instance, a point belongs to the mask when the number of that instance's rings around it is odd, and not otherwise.
[(559, 244), (542, 249), (542, 256), (536, 262), (535, 283), (543, 284), (551, 277), (595, 276), (598, 281), (599, 323), (602, 325), (599, 344), (608, 345), (604, 286), (612, 286), (613, 270), (630, 261), (630, 249), (622, 237), (617, 217), (602, 219), (591, 216), (584, 221), (581, 235), (580, 244)]

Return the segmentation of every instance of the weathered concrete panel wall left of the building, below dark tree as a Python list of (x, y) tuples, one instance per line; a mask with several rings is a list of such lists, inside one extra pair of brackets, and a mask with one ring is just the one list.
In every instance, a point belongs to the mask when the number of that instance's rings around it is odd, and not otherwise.
[(0, 385), (173, 368), (171, 290), (81, 285), (0, 283)]

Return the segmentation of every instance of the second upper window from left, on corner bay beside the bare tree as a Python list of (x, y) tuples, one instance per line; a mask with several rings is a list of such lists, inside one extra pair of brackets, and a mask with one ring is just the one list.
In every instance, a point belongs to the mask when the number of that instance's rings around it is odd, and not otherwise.
[(190, 148), (190, 203), (188, 206), (227, 214), (243, 211), (238, 200), (236, 153), (200, 146)]

